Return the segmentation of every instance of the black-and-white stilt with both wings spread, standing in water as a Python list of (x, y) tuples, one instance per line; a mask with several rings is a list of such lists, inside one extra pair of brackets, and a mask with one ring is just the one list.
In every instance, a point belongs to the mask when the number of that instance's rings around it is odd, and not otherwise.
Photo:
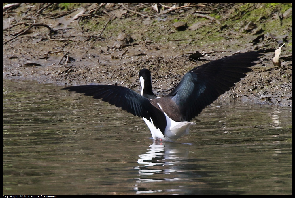
[(84, 93), (142, 117), (154, 140), (173, 140), (189, 134), (189, 122), (218, 96), (251, 71), (263, 51), (250, 51), (205, 63), (188, 71), (168, 95), (159, 98), (152, 91), (150, 71), (139, 72), (141, 94), (122, 86), (82, 85), (63, 89)]

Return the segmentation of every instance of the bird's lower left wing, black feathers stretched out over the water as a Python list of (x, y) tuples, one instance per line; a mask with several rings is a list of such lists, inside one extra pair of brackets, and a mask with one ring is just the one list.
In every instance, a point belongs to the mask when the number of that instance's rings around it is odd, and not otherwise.
[(162, 133), (165, 131), (165, 114), (155, 108), (147, 98), (127, 87), (114, 85), (81, 85), (65, 87), (63, 89), (84, 93), (84, 95), (93, 96), (95, 99), (101, 98), (102, 101), (114, 104), (116, 107), (121, 107), (123, 110), (133, 115), (146, 118), (149, 121), (152, 119), (156, 128), (160, 129)]

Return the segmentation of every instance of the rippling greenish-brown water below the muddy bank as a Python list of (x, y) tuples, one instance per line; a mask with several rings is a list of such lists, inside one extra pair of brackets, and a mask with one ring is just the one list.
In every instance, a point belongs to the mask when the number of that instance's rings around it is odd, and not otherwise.
[(3, 194), (292, 194), (292, 108), (216, 101), (177, 142), (100, 100), (3, 81)]

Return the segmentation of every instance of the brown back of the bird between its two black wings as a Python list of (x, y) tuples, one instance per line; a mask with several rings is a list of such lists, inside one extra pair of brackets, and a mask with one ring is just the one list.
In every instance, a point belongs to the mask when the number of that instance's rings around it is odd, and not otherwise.
[(183, 121), (182, 114), (180, 112), (179, 107), (176, 105), (176, 103), (170, 98), (170, 97), (163, 97), (163, 98), (157, 98), (150, 100), (150, 103), (153, 104), (156, 108), (159, 110), (160, 107), (158, 104), (160, 104), (163, 112), (165, 112), (171, 119), (173, 119), (176, 122)]

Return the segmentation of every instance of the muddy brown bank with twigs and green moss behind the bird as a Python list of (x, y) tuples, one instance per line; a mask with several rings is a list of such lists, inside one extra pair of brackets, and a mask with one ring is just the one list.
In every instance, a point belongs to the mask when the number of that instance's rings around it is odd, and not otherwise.
[[(188, 70), (238, 51), (268, 52), (220, 99), (292, 105), (291, 4), (19, 4), (3, 11), (3, 79), (140, 89), (150, 69), (155, 92)], [(199, 51), (212, 58), (191, 60)], [(214, 58), (214, 59), (213, 59)]]

